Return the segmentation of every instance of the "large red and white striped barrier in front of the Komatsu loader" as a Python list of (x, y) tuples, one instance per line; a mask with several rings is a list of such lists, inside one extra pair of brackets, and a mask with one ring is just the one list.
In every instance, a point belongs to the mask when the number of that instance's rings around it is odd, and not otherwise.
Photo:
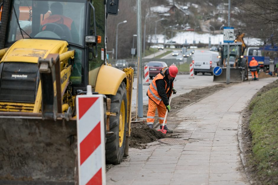
[(78, 95), (76, 106), (79, 185), (105, 185), (103, 96)]

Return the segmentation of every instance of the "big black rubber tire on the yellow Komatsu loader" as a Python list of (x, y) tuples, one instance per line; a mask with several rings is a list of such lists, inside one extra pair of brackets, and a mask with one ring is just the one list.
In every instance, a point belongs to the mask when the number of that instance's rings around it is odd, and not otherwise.
[[(114, 112), (117, 116), (110, 117), (110, 131), (114, 132), (112, 135), (106, 136), (106, 163), (119, 164), (122, 162), (122, 157), (125, 150), (125, 138), (127, 130), (127, 92), (126, 85), (124, 82), (119, 86), (116, 95), (110, 96), (111, 98), (111, 109), (110, 112)], [(125, 102), (125, 128), (122, 146), (119, 147), (119, 113), (121, 109), (122, 100)]]

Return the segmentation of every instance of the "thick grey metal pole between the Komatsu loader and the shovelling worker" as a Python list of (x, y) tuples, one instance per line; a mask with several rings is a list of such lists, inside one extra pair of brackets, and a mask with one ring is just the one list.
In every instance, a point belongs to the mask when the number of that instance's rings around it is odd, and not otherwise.
[(138, 84), (138, 116), (143, 118), (143, 83), (142, 83), (142, 32), (141, 32), (141, 0), (137, 0), (137, 48), (139, 61)]

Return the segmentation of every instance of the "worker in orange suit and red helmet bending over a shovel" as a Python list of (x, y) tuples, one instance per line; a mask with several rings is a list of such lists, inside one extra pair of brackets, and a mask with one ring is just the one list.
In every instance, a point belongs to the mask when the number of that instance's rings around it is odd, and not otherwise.
[[(149, 107), (147, 113), (147, 125), (153, 128), (154, 116), (157, 108), (160, 129), (162, 128), (165, 113), (170, 111), (170, 105), (168, 102), (169, 96), (173, 91), (176, 94), (177, 91), (173, 89), (173, 81), (177, 76), (178, 68), (176, 66), (164, 67), (160, 70), (160, 73), (154, 77), (147, 91), (149, 97)], [(167, 120), (165, 122), (164, 129), (166, 133), (172, 133), (172, 130), (167, 128)]]

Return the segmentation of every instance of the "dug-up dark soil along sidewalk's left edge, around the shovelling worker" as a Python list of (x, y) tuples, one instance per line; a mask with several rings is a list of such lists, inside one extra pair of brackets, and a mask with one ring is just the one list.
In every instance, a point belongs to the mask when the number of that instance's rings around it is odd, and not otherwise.
[[(174, 114), (175, 112), (179, 111), (180, 109), (212, 94), (216, 91), (219, 91), (227, 86), (232, 85), (233, 83), (226, 85), (226, 84), (217, 84), (210, 87), (205, 87), (203, 89), (194, 89), (193, 91), (182, 94), (180, 96), (173, 96), (171, 101), (171, 110), (170, 115)], [(147, 117), (148, 112), (148, 105), (143, 105), (143, 117)], [(135, 120), (135, 112), (132, 112), (132, 120)], [(156, 112), (155, 123), (158, 123), (158, 114)], [(154, 124), (154, 126), (157, 124)], [(182, 134), (182, 133), (181, 133)], [(170, 138), (177, 138), (178, 134), (162, 134), (154, 129), (150, 129), (147, 126), (146, 119), (143, 122), (139, 123), (131, 123), (131, 138), (130, 138), (130, 147), (132, 148), (146, 148), (146, 143), (150, 143), (156, 141), (161, 138), (170, 137)]]

